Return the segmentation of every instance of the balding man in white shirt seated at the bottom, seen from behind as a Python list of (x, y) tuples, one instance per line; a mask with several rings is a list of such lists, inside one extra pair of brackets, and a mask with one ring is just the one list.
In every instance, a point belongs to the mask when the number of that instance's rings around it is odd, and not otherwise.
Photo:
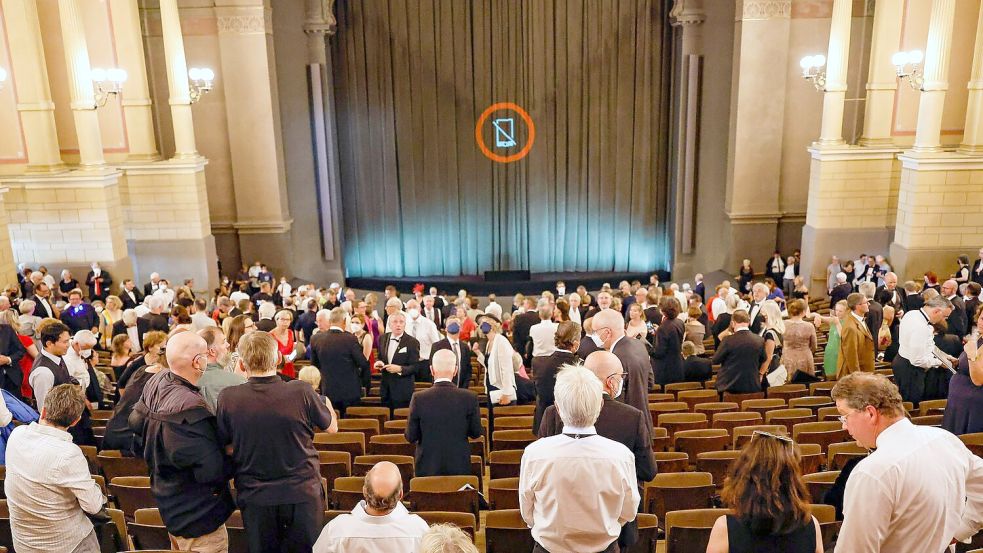
[(351, 514), (328, 523), (314, 553), (415, 553), (427, 523), (400, 502), (403, 478), (396, 465), (383, 461), (365, 475), (365, 499)]

